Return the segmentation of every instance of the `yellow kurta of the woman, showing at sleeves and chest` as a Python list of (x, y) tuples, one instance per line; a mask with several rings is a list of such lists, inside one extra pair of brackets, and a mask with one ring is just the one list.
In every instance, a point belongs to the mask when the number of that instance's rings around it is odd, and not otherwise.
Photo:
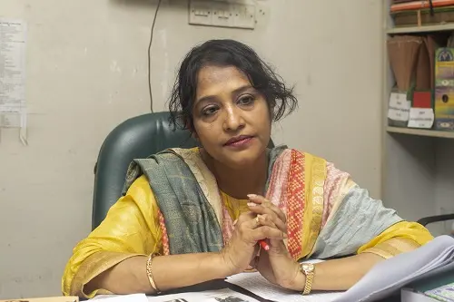
[[(222, 202), (232, 219), (247, 211), (246, 200), (222, 193)], [(158, 206), (144, 176), (134, 181), (127, 194), (109, 210), (102, 224), (74, 248), (64, 269), (64, 295), (94, 297), (104, 290), (84, 293), (83, 287), (108, 268), (137, 255), (162, 252)], [(428, 230), (417, 223), (400, 222), (386, 229), (358, 252), (371, 252), (390, 258), (417, 248), (432, 239)]]

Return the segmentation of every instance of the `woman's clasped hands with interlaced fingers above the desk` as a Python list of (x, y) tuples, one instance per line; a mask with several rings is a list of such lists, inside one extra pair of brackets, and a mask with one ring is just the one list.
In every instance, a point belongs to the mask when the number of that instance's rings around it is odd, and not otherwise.
[[(250, 211), (235, 222), (232, 238), (222, 250), (227, 265), (232, 274), (252, 266), (271, 283), (295, 288), (300, 269), (283, 242), (287, 238), (285, 214), (262, 196), (249, 195), (249, 199)], [(260, 240), (265, 240), (270, 249), (259, 248)]]

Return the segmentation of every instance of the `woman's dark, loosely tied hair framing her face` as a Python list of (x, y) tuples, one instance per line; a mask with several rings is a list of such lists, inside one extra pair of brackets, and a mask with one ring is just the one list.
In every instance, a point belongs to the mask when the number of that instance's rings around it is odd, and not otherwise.
[(252, 86), (264, 95), (274, 121), (298, 106), (293, 88), (286, 87), (281, 77), (251, 47), (234, 40), (210, 40), (192, 48), (180, 66), (169, 101), (170, 122), (174, 128), (193, 129), (197, 76), (207, 65), (234, 66), (246, 74)]

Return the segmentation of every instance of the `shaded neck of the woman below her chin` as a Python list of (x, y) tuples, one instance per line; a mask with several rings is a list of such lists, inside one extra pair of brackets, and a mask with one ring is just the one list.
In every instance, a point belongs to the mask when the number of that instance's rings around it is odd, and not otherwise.
[(268, 172), (268, 155), (263, 152), (257, 161), (241, 169), (233, 169), (215, 161), (202, 151), (202, 160), (212, 171), (219, 189), (232, 198), (245, 200), (248, 194), (264, 194)]

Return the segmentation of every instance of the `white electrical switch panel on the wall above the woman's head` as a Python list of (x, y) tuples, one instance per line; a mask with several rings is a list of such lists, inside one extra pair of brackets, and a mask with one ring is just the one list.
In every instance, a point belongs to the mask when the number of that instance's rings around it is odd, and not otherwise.
[(255, 28), (255, 5), (227, 1), (191, 0), (189, 24)]

